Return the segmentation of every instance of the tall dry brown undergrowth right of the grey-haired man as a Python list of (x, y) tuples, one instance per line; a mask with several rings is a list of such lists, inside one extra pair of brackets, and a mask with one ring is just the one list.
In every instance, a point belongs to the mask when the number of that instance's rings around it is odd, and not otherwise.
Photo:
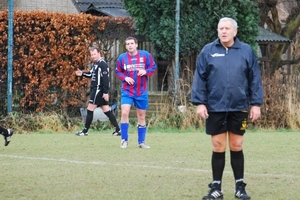
[(256, 123), (264, 129), (300, 129), (300, 79), (297, 75), (264, 78), (264, 104), (261, 119)]

